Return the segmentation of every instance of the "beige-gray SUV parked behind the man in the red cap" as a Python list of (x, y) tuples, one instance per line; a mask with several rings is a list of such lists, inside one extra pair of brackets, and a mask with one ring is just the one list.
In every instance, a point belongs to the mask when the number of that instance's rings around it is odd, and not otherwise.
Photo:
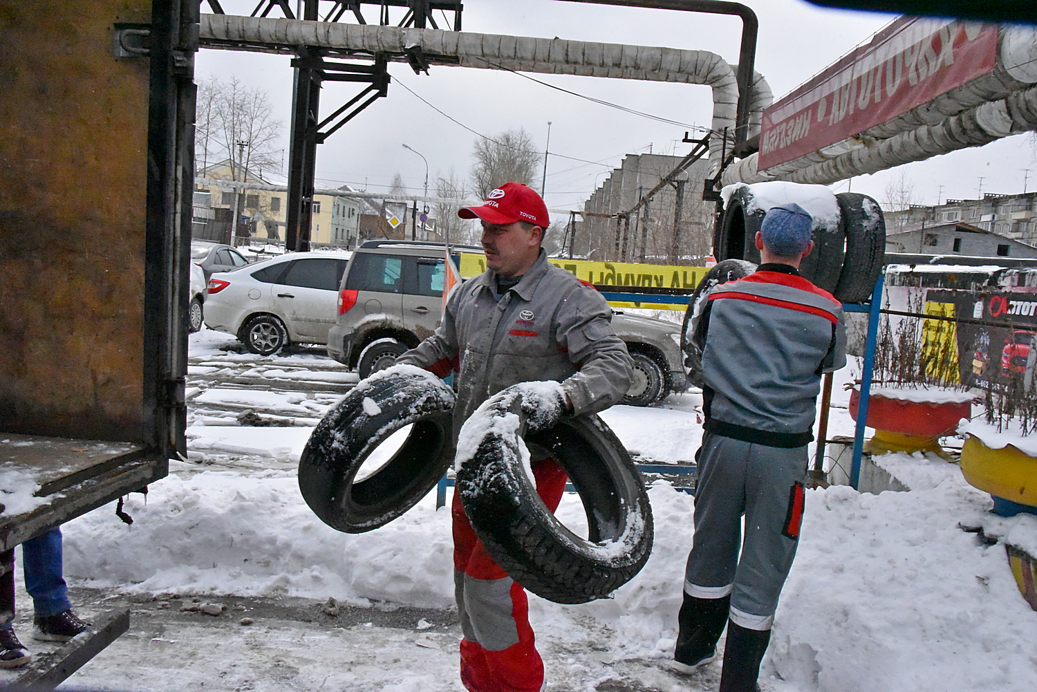
[[(366, 378), (431, 334), (442, 311), (444, 250), (442, 243), (408, 241), (368, 241), (357, 248), (342, 277), (328, 355)], [(612, 327), (634, 359), (624, 404), (648, 406), (688, 388), (679, 325), (613, 310)]]

